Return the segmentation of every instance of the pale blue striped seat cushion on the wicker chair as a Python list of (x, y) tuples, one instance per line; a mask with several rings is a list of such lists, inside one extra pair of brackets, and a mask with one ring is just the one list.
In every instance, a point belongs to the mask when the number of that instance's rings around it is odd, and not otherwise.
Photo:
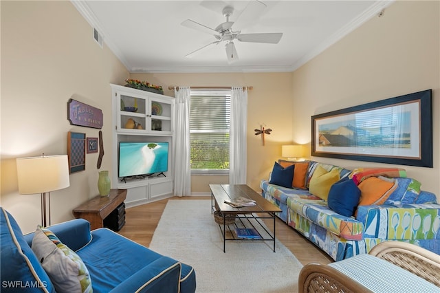
[(439, 292), (439, 287), (425, 279), (370, 254), (358, 254), (329, 266), (373, 292)]

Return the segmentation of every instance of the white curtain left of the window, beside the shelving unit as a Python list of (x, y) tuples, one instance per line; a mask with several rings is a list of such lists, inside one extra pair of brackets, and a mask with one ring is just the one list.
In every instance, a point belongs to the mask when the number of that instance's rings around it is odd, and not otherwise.
[(174, 195), (191, 195), (190, 88), (175, 89)]

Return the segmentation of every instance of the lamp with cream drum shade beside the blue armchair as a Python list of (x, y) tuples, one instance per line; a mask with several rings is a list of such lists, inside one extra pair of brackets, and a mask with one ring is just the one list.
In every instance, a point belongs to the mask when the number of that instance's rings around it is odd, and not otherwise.
[(41, 225), (47, 226), (47, 211), (50, 225), (50, 192), (70, 186), (67, 155), (17, 158), (17, 177), (20, 194), (41, 193)]

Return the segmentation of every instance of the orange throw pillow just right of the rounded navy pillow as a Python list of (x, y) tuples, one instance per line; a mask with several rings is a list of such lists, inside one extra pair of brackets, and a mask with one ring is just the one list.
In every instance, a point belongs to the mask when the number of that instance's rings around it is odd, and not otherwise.
[(360, 182), (358, 187), (360, 189), (358, 206), (371, 206), (384, 204), (386, 199), (397, 188), (397, 184), (378, 177), (368, 177)]

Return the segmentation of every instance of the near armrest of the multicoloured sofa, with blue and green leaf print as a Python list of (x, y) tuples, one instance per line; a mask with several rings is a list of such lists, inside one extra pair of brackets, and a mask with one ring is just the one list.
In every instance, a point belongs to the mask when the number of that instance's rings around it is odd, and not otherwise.
[(440, 205), (359, 206), (364, 237), (388, 240), (439, 239)]

